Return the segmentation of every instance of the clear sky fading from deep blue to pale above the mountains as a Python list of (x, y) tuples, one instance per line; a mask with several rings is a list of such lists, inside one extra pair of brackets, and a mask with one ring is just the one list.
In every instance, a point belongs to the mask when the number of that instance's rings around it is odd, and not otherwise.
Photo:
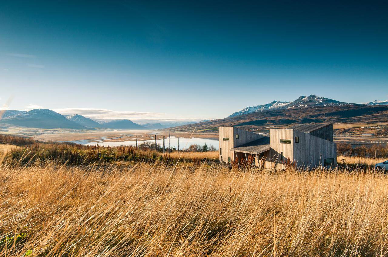
[(387, 5), (316, 2), (2, 1), (0, 105), (138, 120), (387, 99)]

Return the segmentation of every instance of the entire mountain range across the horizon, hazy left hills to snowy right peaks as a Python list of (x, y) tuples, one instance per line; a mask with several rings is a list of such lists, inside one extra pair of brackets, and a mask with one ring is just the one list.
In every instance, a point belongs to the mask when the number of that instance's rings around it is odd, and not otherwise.
[[(306, 122), (388, 122), (388, 100), (364, 104), (345, 103), (315, 95), (300, 96), (295, 101), (272, 101), (265, 105), (248, 106), (227, 118), (201, 120), (199, 122), (156, 122), (137, 124), (130, 120), (97, 122), (82, 115), (63, 116), (48, 109), (31, 111), (0, 111), (0, 127), (69, 128), (91, 130), (112, 129), (163, 129), (175, 127), (177, 131), (211, 131), (218, 126), (242, 126), (257, 128), (268, 125), (284, 125)], [(194, 123), (196, 123), (194, 125)]]

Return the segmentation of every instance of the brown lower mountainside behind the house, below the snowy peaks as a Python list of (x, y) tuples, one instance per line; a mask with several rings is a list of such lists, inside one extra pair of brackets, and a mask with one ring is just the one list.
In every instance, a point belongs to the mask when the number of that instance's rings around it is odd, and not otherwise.
[(216, 131), (219, 126), (237, 126), (244, 129), (259, 130), (271, 125), (288, 125), (293, 123), (312, 122), (388, 122), (387, 105), (334, 105), (315, 106), (305, 108), (267, 110), (254, 112), (236, 117), (211, 120), (199, 124), (174, 127), (174, 131), (190, 131), (194, 127), (197, 131)]

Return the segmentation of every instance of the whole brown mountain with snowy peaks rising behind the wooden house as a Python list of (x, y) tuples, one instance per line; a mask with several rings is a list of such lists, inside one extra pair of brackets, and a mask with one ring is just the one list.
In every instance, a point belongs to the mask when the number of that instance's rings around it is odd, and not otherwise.
[(220, 126), (267, 130), (268, 127), (295, 123), (381, 123), (388, 122), (386, 102), (373, 101), (364, 105), (315, 95), (300, 96), (293, 102), (273, 101), (267, 105), (248, 106), (227, 118), (175, 127), (174, 130), (187, 132), (196, 127), (196, 131), (217, 132)]

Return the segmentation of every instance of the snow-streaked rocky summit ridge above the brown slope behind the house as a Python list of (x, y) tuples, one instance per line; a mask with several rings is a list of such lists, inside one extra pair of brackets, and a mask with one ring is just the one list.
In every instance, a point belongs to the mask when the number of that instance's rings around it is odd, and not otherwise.
[(237, 115), (267, 111), (267, 110), (298, 109), (298, 108), (308, 108), (313, 106), (331, 106), (331, 105), (352, 105), (352, 103), (344, 103), (344, 102), (336, 101), (325, 97), (315, 96), (311, 94), (310, 96), (300, 96), (293, 102), (273, 101), (271, 103), (267, 103), (266, 105), (248, 106), (242, 109), (241, 111), (237, 111), (233, 113), (229, 117), (235, 117)]

